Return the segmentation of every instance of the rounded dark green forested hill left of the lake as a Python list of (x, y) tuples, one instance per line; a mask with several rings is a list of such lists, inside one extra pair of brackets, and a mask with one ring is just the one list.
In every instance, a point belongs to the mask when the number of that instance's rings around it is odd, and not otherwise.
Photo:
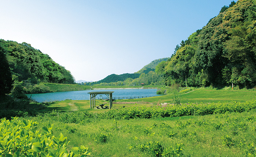
[(18, 44), (15, 41), (1, 39), (0, 47), (6, 55), (14, 81), (29, 79), (33, 84), (38, 82), (74, 84), (74, 77), (69, 71), (30, 44)]

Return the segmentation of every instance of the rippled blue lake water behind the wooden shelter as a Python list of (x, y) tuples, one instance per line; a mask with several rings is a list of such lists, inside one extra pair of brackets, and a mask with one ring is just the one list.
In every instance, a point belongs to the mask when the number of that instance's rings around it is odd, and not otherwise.
[[(138, 96), (160, 96), (157, 94), (157, 89), (106, 89), (106, 90), (79, 90), (69, 92), (54, 92), (54, 93), (41, 93), (41, 94), (26, 94), (37, 102), (52, 102), (62, 100), (90, 100), (89, 92), (101, 92), (101, 91), (114, 91), (113, 97), (138, 97)], [(96, 98), (100, 96), (107, 97), (105, 94), (98, 94)]]

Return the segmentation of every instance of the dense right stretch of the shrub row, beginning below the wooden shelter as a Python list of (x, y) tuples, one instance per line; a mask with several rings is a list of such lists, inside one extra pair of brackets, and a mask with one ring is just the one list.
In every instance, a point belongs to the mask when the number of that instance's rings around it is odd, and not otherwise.
[(256, 109), (256, 100), (246, 102), (219, 102), (210, 104), (171, 104), (161, 107), (134, 106), (121, 108), (118, 110), (109, 110), (108, 112), (97, 114), (100, 118), (106, 119), (135, 119), (135, 118), (161, 118), (192, 115), (207, 115), (226, 112), (248, 112)]

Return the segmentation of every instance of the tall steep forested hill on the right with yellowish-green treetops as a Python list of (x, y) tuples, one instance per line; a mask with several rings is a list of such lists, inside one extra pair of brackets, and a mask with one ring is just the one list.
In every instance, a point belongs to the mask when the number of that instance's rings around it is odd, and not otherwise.
[(255, 87), (256, 1), (232, 1), (220, 10), (158, 65), (166, 85)]

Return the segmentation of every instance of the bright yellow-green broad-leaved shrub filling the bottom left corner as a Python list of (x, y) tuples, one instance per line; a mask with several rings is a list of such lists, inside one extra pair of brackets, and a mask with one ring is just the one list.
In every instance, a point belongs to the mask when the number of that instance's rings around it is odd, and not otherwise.
[(0, 156), (1, 157), (83, 157), (90, 153), (84, 146), (74, 147), (68, 153), (67, 137), (62, 133), (53, 136), (52, 126), (36, 128), (37, 122), (30, 120), (1, 119)]

